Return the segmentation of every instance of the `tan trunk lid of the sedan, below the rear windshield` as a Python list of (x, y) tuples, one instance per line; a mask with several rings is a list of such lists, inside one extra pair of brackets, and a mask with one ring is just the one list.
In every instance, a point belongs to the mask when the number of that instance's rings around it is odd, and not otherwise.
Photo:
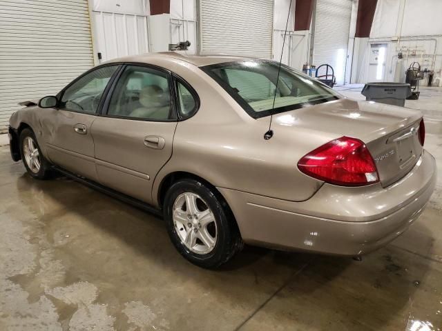
[(376, 162), (383, 187), (410, 172), (423, 151), (421, 113), (407, 108), (340, 99), (276, 114), (273, 121), (278, 130), (295, 126), (323, 136), (325, 142), (343, 136), (361, 139)]

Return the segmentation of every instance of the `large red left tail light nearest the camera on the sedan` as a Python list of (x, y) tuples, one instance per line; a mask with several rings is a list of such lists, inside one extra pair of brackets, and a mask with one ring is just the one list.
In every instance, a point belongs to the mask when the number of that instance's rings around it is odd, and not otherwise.
[(378, 170), (367, 146), (361, 140), (349, 137), (316, 148), (300, 159), (298, 168), (311, 177), (336, 185), (361, 186), (379, 181)]

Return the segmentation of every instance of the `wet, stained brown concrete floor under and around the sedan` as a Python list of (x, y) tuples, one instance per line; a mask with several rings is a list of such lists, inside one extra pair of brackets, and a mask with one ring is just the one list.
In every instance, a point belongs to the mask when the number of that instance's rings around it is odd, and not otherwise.
[(32, 180), (3, 146), (0, 330), (441, 330), (442, 90), (414, 103), (430, 106), (439, 183), (421, 219), (361, 262), (247, 247), (202, 270), (160, 219), (64, 177)]

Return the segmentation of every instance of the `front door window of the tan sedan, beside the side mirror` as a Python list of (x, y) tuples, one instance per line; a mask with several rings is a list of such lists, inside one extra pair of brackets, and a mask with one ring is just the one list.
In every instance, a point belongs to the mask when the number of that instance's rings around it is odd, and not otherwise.
[(104, 89), (117, 68), (118, 66), (106, 66), (85, 74), (66, 88), (59, 108), (95, 114)]

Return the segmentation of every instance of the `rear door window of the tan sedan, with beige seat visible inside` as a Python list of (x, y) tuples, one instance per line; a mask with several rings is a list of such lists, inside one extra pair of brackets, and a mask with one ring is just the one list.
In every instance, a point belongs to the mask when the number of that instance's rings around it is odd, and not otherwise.
[(107, 114), (151, 121), (176, 119), (170, 81), (166, 72), (128, 66), (115, 86)]

